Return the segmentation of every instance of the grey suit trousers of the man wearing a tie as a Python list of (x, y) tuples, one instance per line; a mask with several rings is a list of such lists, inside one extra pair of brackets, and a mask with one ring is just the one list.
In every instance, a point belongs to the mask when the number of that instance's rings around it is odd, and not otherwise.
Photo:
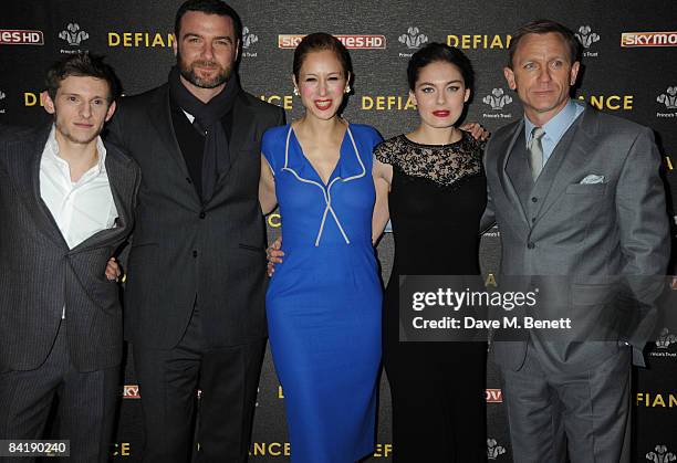
[(529, 343), (522, 368), (501, 369), (514, 463), (560, 461), (566, 445), (563, 430), (572, 443), (571, 463), (622, 462), (629, 425), (631, 349), (576, 372), (548, 369), (539, 357)]

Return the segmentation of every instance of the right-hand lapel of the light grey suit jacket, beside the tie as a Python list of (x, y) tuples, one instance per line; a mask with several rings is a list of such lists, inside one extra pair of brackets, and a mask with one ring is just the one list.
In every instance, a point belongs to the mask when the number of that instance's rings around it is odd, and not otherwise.
[[(580, 168), (590, 159), (589, 152), (591, 147), (594, 146), (596, 131), (597, 115), (586, 107), (585, 112), (564, 134), (551, 159), (545, 164), (543, 172), (541, 172), (541, 176), (544, 175), (543, 182), (539, 185), (541, 183), (541, 178), (539, 178), (537, 187), (541, 187), (541, 196), (544, 197), (544, 200), (541, 209), (537, 212), (537, 223), (564, 193), (566, 187), (579, 175)], [(549, 166), (550, 162), (553, 162), (553, 165)]]

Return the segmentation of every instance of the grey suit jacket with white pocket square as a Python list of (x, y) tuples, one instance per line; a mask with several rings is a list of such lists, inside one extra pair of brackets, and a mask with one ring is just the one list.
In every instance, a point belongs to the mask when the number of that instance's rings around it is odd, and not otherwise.
[[(594, 367), (627, 341), (635, 348), (634, 361), (643, 365), (660, 286), (637, 275), (664, 275), (669, 257), (660, 159), (652, 130), (589, 106), (535, 185), (523, 133), (520, 119), (497, 130), (487, 146), (489, 201), (482, 228), (493, 220), (499, 227), (501, 274), (541, 276), (532, 283), (550, 287), (542, 291), (539, 307), (552, 318), (575, 314), (579, 339), (596, 339), (549, 343), (531, 332), (531, 345), (554, 368), (575, 370)], [(603, 176), (603, 181), (581, 182), (591, 175)], [(622, 284), (624, 277), (629, 280)], [(631, 309), (635, 316), (621, 312), (621, 288), (628, 287), (640, 303)], [(519, 369), (528, 344), (496, 341), (496, 361)]]

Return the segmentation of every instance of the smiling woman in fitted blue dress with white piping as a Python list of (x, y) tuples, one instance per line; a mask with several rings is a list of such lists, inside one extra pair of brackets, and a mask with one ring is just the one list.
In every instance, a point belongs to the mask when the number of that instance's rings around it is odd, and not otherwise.
[(284, 265), (267, 295), (270, 346), (284, 390), (292, 461), (348, 463), (373, 452), (382, 288), (372, 246), (376, 192), (369, 126), (338, 116), (347, 50), (325, 33), (294, 52), (301, 119), (262, 140), (263, 212), (280, 204)]

